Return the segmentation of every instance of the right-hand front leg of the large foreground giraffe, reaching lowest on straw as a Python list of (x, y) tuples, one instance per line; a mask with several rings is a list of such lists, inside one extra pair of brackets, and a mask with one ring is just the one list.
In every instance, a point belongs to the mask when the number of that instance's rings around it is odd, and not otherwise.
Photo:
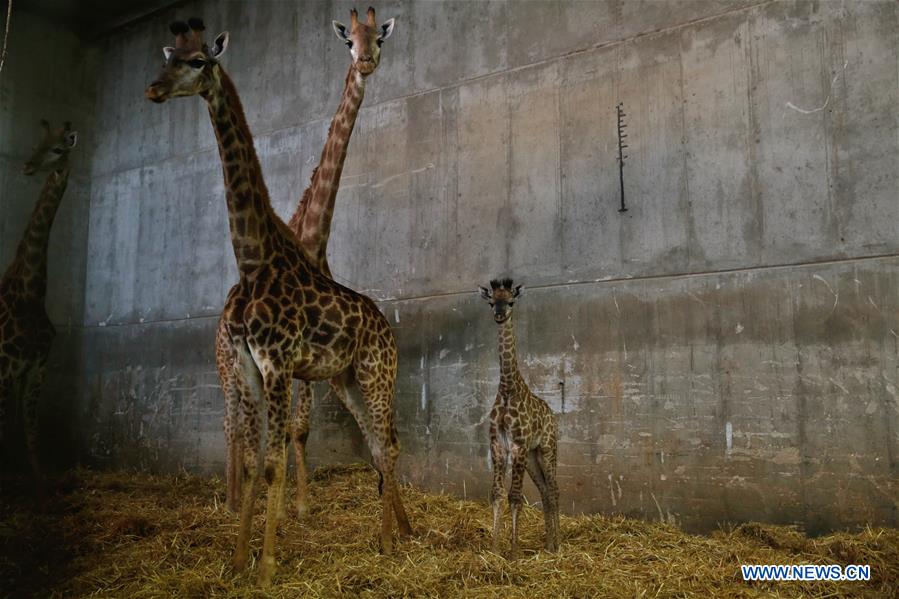
[(284, 481), (287, 474), (287, 430), (290, 418), (289, 369), (268, 366), (263, 374), (265, 404), (268, 414), (268, 438), (265, 452), (265, 481), (268, 484), (265, 507), (265, 536), (262, 540), (262, 557), (259, 561), (259, 585), (268, 587), (275, 575), (275, 533), (278, 530), (278, 512), (284, 499)]

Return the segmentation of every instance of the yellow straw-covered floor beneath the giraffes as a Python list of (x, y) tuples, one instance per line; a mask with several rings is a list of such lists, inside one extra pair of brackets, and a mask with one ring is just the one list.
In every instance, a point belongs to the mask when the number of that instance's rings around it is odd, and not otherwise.
[[(747, 524), (710, 536), (601, 516), (562, 518), (562, 550), (540, 551), (539, 509), (523, 516), (524, 555), (490, 551), (486, 503), (404, 488), (416, 529), (395, 555), (377, 551), (377, 474), (319, 469), (307, 519), (282, 524), (268, 593), (255, 563), (234, 575), (237, 519), (220, 480), (78, 471), (41, 510), (23, 490), (0, 505), (4, 597), (895, 597), (899, 531), (809, 539)], [(258, 502), (262, 507), (262, 500)], [(261, 542), (255, 523), (253, 555)], [(743, 582), (741, 563), (869, 564), (871, 582)]]

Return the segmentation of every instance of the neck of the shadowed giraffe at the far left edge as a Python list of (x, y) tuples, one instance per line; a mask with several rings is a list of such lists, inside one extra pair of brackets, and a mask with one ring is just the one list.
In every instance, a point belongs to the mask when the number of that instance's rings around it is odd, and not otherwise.
[(4, 282), (16, 279), (26, 295), (43, 298), (47, 293), (47, 246), (59, 202), (66, 191), (69, 168), (52, 171), (44, 182), (16, 257), (6, 270)]

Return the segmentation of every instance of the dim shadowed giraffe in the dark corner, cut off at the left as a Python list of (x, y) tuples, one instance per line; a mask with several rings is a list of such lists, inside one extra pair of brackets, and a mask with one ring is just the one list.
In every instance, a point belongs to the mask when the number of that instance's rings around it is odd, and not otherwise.
[(37, 204), (16, 249), (12, 264), (0, 280), (0, 439), (5, 410), (22, 402), (25, 444), (36, 490), (43, 495), (44, 479), (37, 455), (38, 399), (47, 370), (47, 356), (56, 330), (47, 316), (47, 246), (56, 210), (69, 180), (69, 152), (78, 133), (69, 123), (51, 129), (41, 121), (41, 139), (22, 172), (49, 170)]

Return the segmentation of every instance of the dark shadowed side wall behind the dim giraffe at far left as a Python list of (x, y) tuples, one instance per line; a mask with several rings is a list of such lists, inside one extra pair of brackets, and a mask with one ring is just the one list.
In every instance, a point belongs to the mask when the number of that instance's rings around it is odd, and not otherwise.
[[(66, 28), (14, 5), (8, 54), (0, 73), (0, 273), (15, 255), (46, 173), (22, 174), (22, 165), (40, 136), (40, 119), (54, 127), (71, 121), (79, 132), (70, 160), (72, 172), (50, 237), (47, 312), (57, 330), (50, 356), (51, 376), (41, 406), (45, 461), (71, 456), (79, 431), (69, 424), (76, 412), (75, 391), (84, 318), (84, 286), (94, 147), (98, 53)], [(3, 24), (6, 3), (0, 2)], [(2, 33), (0, 33), (2, 35)], [(20, 414), (6, 432), (22, 451)], [(6, 462), (7, 465), (9, 462)]]

